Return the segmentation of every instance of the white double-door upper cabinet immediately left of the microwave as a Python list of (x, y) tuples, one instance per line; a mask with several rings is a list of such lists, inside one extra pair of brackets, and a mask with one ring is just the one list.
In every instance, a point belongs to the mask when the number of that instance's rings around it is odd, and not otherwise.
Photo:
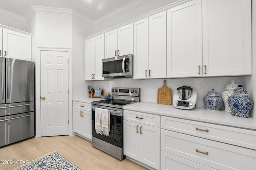
[(104, 34), (84, 41), (84, 80), (104, 80)]

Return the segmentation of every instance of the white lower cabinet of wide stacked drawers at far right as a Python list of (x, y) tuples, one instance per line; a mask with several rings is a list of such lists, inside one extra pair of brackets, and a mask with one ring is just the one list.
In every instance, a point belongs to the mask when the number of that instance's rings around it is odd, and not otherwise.
[[(172, 123), (168, 123), (172, 122)], [(187, 124), (185, 124), (185, 122)], [(208, 125), (207, 125), (208, 124)], [(193, 127), (193, 125), (195, 127)], [(255, 170), (256, 150), (234, 141), (233, 127), (161, 116), (161, 169)], [(218, 127), (219, 126), (219, 127)], [(182, 128), (183, 127), (183, 128)], [(195, 129), (193, 132), (192, 129)], [(199, 130), (198, 130), (199, 129)], [(244, 131), (244, 135), (242, 134)], [(239, 137), (255, 143), (255, 131), (242, 129)], [(227, 131), (230, 131), (230, 142)], [(252, 131), (251, 133), (248, 131)], [(226, 134), (227, 136), (222, 136)], [(248, 138), (248, 134), (251, 138)], [(238, 134), (236, 134), (238, 135)], [(222, 139), (223, 138), (223, 139)], [(250, 141), (251, 140), (251, 141)], [(240, 147), (237, 144), (242, 144)], [(253, 147), (252, 147), (253, 148)]]

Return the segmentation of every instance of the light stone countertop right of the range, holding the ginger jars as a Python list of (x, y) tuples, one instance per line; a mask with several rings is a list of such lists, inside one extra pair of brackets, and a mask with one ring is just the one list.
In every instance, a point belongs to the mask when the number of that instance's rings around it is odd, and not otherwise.
[(130, 104), (128, 106), (124, 106), (123, 109), (256, 130), (255, 118), (236, 117), (224, 110), (209, 111), (200, 107), (184, 110), (177, 109), (173, 105), (162, 105), (149, 102)]

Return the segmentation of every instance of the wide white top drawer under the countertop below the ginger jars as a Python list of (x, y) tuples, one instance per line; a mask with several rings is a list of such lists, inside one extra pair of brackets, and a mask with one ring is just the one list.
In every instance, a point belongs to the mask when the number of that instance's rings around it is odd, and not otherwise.
[(256, 149), (256, 131), (161, 116), (161, 128)]

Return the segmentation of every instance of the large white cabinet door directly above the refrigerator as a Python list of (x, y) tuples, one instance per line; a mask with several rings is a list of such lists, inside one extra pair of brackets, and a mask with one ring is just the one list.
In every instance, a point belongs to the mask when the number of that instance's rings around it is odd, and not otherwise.
[(31, 61), (31, 36), (3, 29), (3, 56), (11, 59)]

